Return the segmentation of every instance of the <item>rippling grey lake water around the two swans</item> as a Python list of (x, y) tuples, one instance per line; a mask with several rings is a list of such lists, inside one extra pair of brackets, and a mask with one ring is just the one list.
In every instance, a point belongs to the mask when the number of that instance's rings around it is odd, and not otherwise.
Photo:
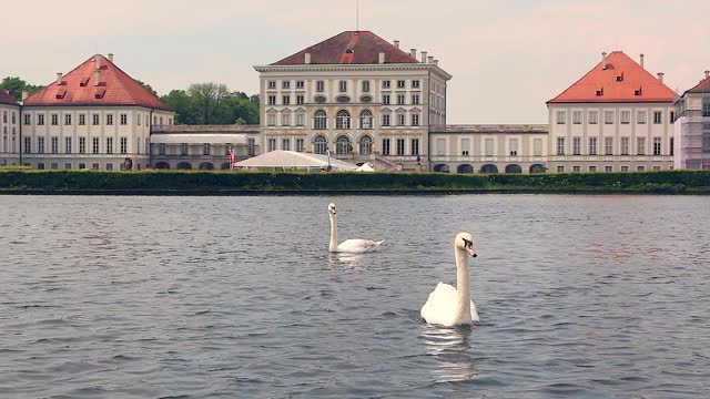
[[(355, 257), (339, 239), (386, 239)], [(707, 398), (710, 197), (0, 196), (2, 398)], [(474, 234), (480, 323), (427, 326)]]

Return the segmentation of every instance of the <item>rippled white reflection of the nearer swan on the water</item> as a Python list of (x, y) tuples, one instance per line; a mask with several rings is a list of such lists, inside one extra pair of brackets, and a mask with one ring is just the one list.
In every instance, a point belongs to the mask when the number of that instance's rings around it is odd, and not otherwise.
[(420, 338), (426, 354), (434, 359), (430, 371), (436, 382), (469, 381), (478, 377), (469, 342), (471, 334), (470, 326), (424, 327)]

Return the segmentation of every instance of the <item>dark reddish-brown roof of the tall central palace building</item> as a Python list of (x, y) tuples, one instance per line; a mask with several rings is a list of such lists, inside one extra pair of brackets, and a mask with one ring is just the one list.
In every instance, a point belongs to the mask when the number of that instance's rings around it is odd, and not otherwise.
[(377, 64), (381, 52), (385, 53), (385, 63), (419, 62), (373, 32), (345, 31), (272, 65), (304, 65), (306, 53), (312, 64)]

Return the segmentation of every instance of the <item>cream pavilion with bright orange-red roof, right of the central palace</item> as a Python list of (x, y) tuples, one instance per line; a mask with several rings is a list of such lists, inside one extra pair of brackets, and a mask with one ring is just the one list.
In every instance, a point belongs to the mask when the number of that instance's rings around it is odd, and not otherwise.
[(673, 166), (677, 94), (621, 51), (547, 102), (549, 172), (626, 172)]

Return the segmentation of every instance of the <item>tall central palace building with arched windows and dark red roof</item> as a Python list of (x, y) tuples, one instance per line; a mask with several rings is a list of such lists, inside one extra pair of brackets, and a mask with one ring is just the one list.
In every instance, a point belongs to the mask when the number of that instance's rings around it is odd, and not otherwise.
[(429, 126), (446, 124), (452, 79), (426, 51), (346, 31), (270, 65), (261, 81), (261, 146), (428, 170)]

